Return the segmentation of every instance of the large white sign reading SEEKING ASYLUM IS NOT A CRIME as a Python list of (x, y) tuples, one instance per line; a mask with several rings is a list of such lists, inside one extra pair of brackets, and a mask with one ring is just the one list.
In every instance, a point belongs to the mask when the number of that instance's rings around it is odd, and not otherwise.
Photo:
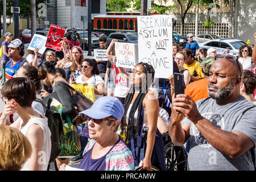
[(155, 77), (172, 75), (171, 15), (138, 16), (138, 61), (151, 64)]

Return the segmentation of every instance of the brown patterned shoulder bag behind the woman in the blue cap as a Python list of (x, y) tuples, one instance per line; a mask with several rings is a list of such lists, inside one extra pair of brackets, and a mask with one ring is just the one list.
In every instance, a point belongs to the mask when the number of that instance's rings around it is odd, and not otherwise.
[(63, 82), (69, 89), (72, 90), (73, 96), (73, 104), (75, 106), (75, 112), (73, 114), (73, 120), (76, 122), (77, 125), (83, 123), (86, 121), (85, 115), (84, 114), (79, 114), (81, 111), (84, 111), (86, 109), (89, 109), (92, 107), (93, 102), (89, 98), (85, 97), (82, 92), (79, 90), (74, 89), (72, 86), (66, 84)]

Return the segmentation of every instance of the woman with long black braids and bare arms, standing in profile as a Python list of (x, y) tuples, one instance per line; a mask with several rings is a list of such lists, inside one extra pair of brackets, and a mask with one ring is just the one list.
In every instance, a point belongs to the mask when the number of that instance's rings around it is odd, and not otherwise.
[(151, 65), (138, 63), (129, 75), (131, 87), (124, 102), (121, 135), (133, 152), (135, 166), (142, 161), (143, 169), (166, 170), (162, 135), (157, 129), (158, 97), (150, 90), (154, 73)]

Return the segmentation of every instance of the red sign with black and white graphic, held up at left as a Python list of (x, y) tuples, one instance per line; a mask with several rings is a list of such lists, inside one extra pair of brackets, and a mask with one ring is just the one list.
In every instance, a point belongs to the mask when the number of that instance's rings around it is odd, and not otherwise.
[(60, 51), (61, 40), (64, 38), (66, 28), (51, 24), (46, 41), (46, 47)]

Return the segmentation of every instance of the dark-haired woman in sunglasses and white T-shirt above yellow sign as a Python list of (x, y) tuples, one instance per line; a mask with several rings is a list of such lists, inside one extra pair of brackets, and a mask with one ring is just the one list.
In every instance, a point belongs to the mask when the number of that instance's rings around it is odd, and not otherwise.
[(82, 75), (79, 75), (72, 84), (92, 85), (94, 86), (95, 100), (104, 96), (104, 81), (99, 76), (100, 71), (95, 59), (85, 59), (80, 65)]

